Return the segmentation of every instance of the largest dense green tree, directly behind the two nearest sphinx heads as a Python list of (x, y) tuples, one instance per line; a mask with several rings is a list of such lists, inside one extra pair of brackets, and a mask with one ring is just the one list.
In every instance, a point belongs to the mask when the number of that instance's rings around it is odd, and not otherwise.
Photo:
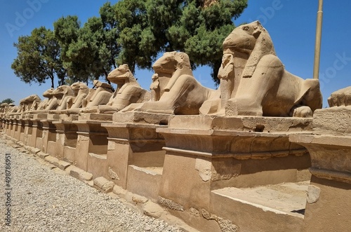
[(212, 78), (223, 55), (222, 43), (234, 29), (247, 0), (124, 0), (116, 4), (121, 61), (132, 69), (151, 68), (161, 51), (180, 50), (192, 67), (209, 65)]

